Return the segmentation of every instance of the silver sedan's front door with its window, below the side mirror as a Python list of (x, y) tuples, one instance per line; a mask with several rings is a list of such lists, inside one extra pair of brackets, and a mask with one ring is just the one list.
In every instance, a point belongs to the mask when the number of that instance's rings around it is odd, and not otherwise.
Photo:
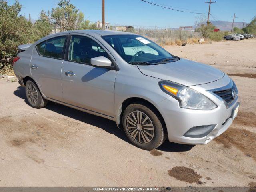
[(72, 35), (68, 56), (62, 66), (62, 90), (64, 102), (114, 116), (114, 85), (116, 70), (94, 67), (90, 59), (114, 57), (100, 42), (90, 36)]

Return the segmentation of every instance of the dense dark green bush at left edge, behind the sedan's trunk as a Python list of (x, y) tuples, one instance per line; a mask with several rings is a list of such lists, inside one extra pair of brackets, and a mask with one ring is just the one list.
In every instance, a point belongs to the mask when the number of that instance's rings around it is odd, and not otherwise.
[(50, 34), (50, 16), (42, 10), (40, 19), (33, 25), (19, 15), (22, 6), (18, 1), (8, 5), (0, 0), (0, 69), (12, 67), (12, 58), (17, 55), (20, 44), (28, 44)]

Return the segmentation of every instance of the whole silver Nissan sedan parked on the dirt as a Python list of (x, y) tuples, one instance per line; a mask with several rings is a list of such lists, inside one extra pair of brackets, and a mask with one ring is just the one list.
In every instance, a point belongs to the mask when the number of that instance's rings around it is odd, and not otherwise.
[(238, 112), (227, 74), (142, 36), (77, 30), (19, 46), (14, 72), (34, 108), (53, 101), (116, 121), (136, 146), (207, 144)]

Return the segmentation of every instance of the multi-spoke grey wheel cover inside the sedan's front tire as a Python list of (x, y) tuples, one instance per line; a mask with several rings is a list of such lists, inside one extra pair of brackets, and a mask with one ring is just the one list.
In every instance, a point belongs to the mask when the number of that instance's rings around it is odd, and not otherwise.
[(130, 135), (141, 144), (146, 144), (154, 138), (152, 120), (142, 111), (131, 112), (126, 120), (126, 125)]

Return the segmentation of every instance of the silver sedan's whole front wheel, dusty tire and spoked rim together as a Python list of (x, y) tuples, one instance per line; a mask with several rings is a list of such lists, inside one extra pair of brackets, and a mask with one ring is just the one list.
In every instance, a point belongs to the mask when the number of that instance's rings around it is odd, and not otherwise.
[(157, 148), (167, 138), (167, 130), (159, 112), (148, 104), (134, 103), (128, 105), (124, 110), (122, 124), (129, 140), (144, 150)]

